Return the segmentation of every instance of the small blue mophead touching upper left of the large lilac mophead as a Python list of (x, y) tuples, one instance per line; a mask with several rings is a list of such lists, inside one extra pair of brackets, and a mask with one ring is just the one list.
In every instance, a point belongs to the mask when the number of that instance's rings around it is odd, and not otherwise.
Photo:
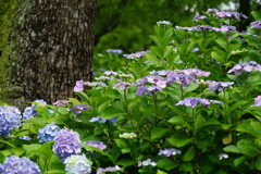
[(39, 142), (48, 142), (54, 139), (60, 132), (60, 127), (54, 123), (48, 124), (38, 132)]

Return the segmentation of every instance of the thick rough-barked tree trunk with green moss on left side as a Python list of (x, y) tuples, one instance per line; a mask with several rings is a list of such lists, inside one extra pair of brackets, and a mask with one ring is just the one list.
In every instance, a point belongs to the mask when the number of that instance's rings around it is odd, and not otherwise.
[(91, 79), (95, 14), (96, 0), (21, 1), (8, 67), (14, 102), (52, 103), (72, 97), (76, 80)]

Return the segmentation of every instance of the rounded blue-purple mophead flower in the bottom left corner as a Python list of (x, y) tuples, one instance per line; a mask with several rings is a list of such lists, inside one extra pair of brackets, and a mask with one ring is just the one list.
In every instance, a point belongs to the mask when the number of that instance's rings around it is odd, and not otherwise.
[(39, 166), (28, 158), (11, 156), (0, 164), (1, 174), (40, 174)]

